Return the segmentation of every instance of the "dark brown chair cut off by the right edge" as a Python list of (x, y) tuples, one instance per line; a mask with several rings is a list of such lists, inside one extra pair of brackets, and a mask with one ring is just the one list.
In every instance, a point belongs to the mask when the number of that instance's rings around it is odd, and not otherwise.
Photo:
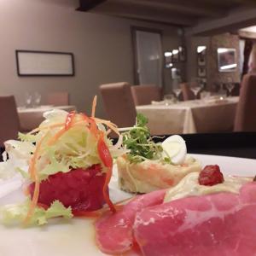
[(234, 131), (256, 131), (256, 75), (246, 74), (241, 81)]

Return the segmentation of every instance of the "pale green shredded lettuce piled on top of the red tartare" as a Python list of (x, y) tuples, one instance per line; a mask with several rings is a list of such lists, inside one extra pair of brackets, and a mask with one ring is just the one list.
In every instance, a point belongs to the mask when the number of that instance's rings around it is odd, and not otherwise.
[(99, 163), (96, 137), (88, 129), (74, 126), (53, 145), (42, 144), (36, 167), (42, 180), (57, 172), (69, 172), (72, 168), (86, 169)]

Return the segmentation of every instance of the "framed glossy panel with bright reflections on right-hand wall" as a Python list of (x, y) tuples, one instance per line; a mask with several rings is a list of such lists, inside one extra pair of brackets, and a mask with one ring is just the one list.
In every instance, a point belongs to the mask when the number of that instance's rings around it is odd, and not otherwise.
[(233, 48), (218, 48), (218, 71), (219, 72), (234, 72), (236, 71), (236, 49)]

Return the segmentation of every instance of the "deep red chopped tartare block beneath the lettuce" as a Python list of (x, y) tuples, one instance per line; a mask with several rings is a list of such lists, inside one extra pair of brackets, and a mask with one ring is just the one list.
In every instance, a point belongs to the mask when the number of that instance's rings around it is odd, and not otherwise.
[[(38, 203), (49, 207), (59, 200), (65, 207), (72, 207), (74, 215), (79, 212), (95, 211), (104, 205), (103, 185), (106, 174), (100, 165), (87, 169), (73, 169), (70, 172), (57, 172), (40, 183)], [(35, 184), (29, 186), (33, 195)]]

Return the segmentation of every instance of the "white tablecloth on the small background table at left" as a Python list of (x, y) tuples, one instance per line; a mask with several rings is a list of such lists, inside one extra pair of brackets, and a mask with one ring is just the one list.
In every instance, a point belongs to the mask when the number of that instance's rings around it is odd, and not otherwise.
[(75, 106), (41, 106), (38, 108), (18, 108), (20, 131), (32, 131), (44, 121), (43, 113), (51, 109), (76, 110)]

